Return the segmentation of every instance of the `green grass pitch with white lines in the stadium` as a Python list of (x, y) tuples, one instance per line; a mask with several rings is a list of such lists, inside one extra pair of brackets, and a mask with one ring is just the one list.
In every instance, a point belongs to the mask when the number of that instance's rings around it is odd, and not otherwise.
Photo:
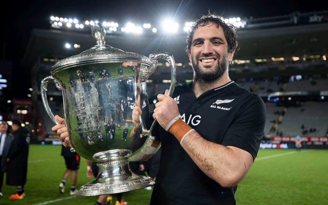
[[(4, 185), (1, 205), (93, 205), (97, 196), (70, 196), (70, 181), (66, 182), (65, 194), (58, 185), (65, 171), (61, 146), (30, 145), (28, 179), (24, 199), (8, 199), (16, 187)], [(239, 184), (236, 192), (238, 205), (323, 205), (328, 204), (328, 150), (259, 150), (249, 173)], [(86, 177), (86, 162), (81, 160), (77, 187), (92, 181)], [(123, 194), (128, 205), (149, 204), (151, 190), (135, 190)], [(115, 196), (113, 196), (116, 199)], [(197, 196), (194, 196), (197, 197)], [(192, 200), (192, 199), (191, 199)], [(186, 201), (186, 204), (188, 202)]]

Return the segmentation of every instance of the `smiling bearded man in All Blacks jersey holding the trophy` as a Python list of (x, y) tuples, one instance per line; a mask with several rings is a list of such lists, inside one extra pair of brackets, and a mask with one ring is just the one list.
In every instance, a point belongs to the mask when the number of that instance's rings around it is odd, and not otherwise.
[[(236, 204), (237, 185), (256, 158), (266, 118), (263, 100), (229, 78), (237, 45), (236, 28), (216, 14), (202, 16), (188, 31), (194, 79), (176, 86), (171, 97), (168, 90), (159, 94), (152, 113), (161, 161), (150, 204)], [(141, 107), (136, 100), (133, 133)], [(65, 125), (52, 130), (71, 146)]]

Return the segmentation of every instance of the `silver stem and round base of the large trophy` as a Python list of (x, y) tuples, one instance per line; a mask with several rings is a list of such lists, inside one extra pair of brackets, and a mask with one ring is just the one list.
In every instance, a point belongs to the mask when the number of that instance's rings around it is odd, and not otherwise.
[(94, 154), (99, 173), (92, 182), (81, 186), (76, 196), (110, 195), (154, 185), (155, 182), (150, 177), (131, 171), (128, 158), (130, 154), (127, 151), (110, 150)]

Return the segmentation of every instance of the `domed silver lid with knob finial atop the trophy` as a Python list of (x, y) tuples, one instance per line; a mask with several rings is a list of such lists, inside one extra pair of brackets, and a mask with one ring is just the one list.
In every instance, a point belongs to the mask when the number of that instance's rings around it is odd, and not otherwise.
[(148, 65), (152, 65), (150, 59), (146, 56), (125, 52), (120, 49), (113, 48), (109, 45), (105, 45), (105, 36), (106, 30), (105, 28), (99, 24), (95, 23), (91, 28), (92, 36), (96, 40), (97, 45), (93, 46), (91, 49), (83, 51), (78, 55), (73, 55), (68, 58), (64, 58), (55, 65), (52, 66), (51, 73), (82, 64), (92, 64), (92, 63), (100, 63), (100, 62), (140, 62)]

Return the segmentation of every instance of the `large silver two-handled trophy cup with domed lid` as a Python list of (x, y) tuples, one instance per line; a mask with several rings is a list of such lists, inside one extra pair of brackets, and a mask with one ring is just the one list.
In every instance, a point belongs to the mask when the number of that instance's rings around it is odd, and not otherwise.
[[(129, 166), (130, 161), (145, 160), (160, 147), (158, 143), (154, 146), (156, 141), (151, 135), (156, 121), (150, 121), (146, 81), (156, 70), (158, 59), (170, 63), (170, 96), (176, 81), (173, 55), (158, 53), (147, 58), (124, 52), (105, 45), (105, 35), (102, 25), (93, 25), (92, 36), (97, 45), (58, 61), (51, 76), (41, 82), (42, 101), (55, 124), (58, 122), (48, 104), (47, 85), (54, 82), (62, 91), (71, 151), (96, 161), (99, 167), (98, 176), (80, 187), (77, 196), (115, 194), (154, 184), (150, 177), (134, 174)], [(135, 100), (140, 102), (142, 114), (139, 129), (130, 138)], [(114, 135), (113, 126), (117, 125), (121, 125), (121, 130), (125, 125), (129, 127), (126, 140)]]

